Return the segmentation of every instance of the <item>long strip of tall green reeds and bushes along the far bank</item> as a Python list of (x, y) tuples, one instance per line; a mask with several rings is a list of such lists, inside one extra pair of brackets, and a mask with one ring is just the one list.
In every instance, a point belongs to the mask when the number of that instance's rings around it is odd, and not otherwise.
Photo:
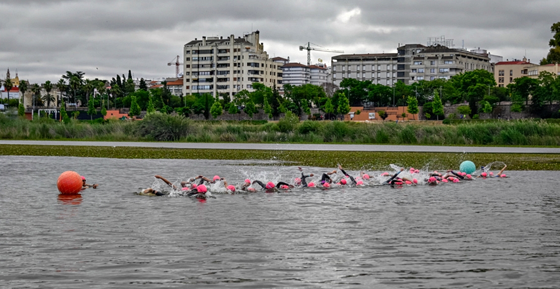
[[(0, 114), (0, 139), (181, 141), (250, 143), (410, 143), (414, 145), (560, 146), (560, 123), (550, 120), (446, 120), (432, 122), (300, 122), (288, 111), (278, 123), (194, 121), (183, 115), (148, 114), (144, 120), (32, 122)], [(452, 122), (451, 122), (452, 121)]]

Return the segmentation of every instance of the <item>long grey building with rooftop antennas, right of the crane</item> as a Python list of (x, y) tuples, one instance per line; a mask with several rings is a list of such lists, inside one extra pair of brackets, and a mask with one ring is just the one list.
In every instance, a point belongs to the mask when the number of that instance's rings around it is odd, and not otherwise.
[(405, 44), (397, 48), (397, 53), (344, 54), (332, 58), (333, 84), (337, 86), (344, 78), (389, 86), (396, 82), (409, 85), (421, 80), (449, 80), (475, 69), (492, 72), (490, 58), (440, 44)]

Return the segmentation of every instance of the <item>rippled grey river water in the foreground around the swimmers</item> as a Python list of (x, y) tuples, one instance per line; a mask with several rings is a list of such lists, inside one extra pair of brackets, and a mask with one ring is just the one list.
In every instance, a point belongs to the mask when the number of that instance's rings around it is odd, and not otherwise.
[[(557, 172), (506, 171), (510, 178), (434, 187), (230, 195), (214, 186), (216, 198), (201, 202), (134, 192), (160, 185), (155, 174), (171, 181), (219, 174), (236, 184), (292, 180), (298, 171), (270, 161), (2, 156), (0, 163), (1, 288), (560, 284)], [(66, 170), (100, 187), (60, 198), (56, 181)]]

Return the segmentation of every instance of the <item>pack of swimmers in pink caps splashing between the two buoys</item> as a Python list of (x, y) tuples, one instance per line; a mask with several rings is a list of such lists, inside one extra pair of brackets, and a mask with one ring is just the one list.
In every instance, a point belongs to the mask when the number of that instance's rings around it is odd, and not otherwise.
[[(507, 165), (505, 165), (499, 173), (496, 175), (493, 174), (491, 171), (487, 171), (486, 168), (481, 167), (480, 174), (477, 176), (472, 176), (470, 174), (466, 174), (460, 171), (453, 171), (447, 170), (445, 174), (438, 173), (437, 171), (433, 171), (432, 173), (428, 174), (427, 178), (421, 179), (421, 184), (427, 185), (438, 185), (442, 183), (460, 183), (461, 181), (473, 180), (474, 178), (506, 178), (507, 176), (503, 174)], [(205, 176), (199, 175), (195, 178), (191, 178), (188, 181), (181, 181), (179, 184), (175, 185), (171, 183), (171, 181), (167, 180), (166, 178), (155, 175), (156, 179), (160, 179), (164, 181), (168, 188), (172, 190), (156, 190), (153, 188), (147, 188), (142, 190), (139, 194), (141, 195), (169, 195), (170, 193), (174, 193), (175, 195), (185, 195), (188, 197), (197, 197), (197, 198), (206, 198), (206, 193), (208, 192), (208, 187), (213, 184), (222, 183), (223, 187), (225, 188), (227, 193), (239, 193), (239, 192), (258, 192), (259, 190), (264, 190), (267, 193), (279, 192), (283, 190), (290, 190), (293, 188), (322, 188), (322, 189), (329, 189), (333, 186), (337, 187), (361, 187), (366, 184), (370, 183), (370, 175), (364, 173), (363, 171), (360, 172), (357, 176), (352, 176), (346, 173), (341, 165), (338, 165), (338, 170), (342, 173), (342, 176), (337, 176), (335, 174), (338, 173), (337, 170), (329, 171), (327, 173), (321, 174), (320, 180), (310, 180), (314, 177), (314, 174), (304, 174), (303, 169), (301, 167), (297, 168), (301, 172), (301, 176), (293, 179), (291, 183), (286, 183), (284, 181), (278, 181), (274, 183), (272, 181), (264, 182), (261, 180), (253, 180), (245, 179), (240, 184), (230, 184), (227, 182), (225, 178), (221, 178), (218, 175), (215, 175), (212, 179), (206, 178)], [(409, 174), (402, 174), (404, 171), (404, 167), (402, 167), (399, 171), (394, 173), (393, 175), (389, 173), (382, 173), (379, 176), (380, 184), (382, 185), (390, 185), (392, 187), (395, 186), (402, 186), (402, 185), (418, 185), (418, 177), (420, 177), (420, 171), (410, 167)], [(399, 176), (400, 175), (400, 176)], [(389, 178), (387, 178), (389, 177)], [(309, 181), (308, 181), (309, 180)], [(84, 180), (85, 181), (85, 180)], [(95, 188), (95, 187), (94, 187)]]

